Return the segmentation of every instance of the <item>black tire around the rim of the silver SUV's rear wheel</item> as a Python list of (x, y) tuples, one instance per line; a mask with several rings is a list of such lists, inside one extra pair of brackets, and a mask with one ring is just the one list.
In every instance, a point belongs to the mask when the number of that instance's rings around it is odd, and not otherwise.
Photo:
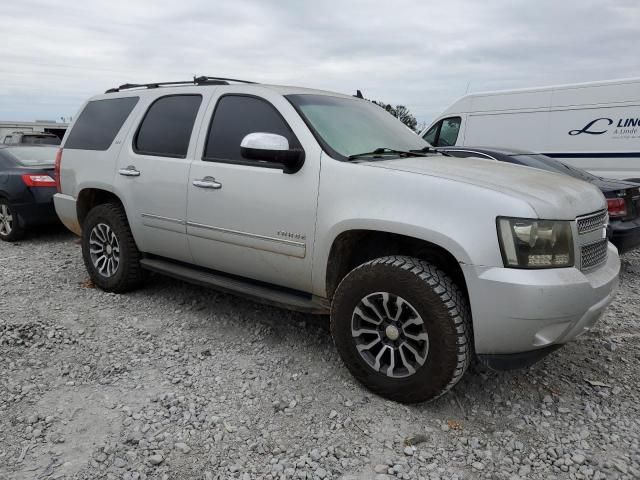
[[(111, 276), (101, 273), (91, 258), (91, 232), (98, 225), (108, 226), (117, 239), (119, 262)], [(121, 205), (105, 203), (91, 209), (82, 225), (82, 257), (93, 283), (107, 292), (124, 293), (134, 290), (145, 279), (145, 271), (140, 265), (140, 251)]]

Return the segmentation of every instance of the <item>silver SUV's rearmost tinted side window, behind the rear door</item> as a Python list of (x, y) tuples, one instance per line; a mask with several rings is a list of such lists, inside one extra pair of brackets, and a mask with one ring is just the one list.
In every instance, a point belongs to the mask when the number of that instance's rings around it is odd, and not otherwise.
[(107, 150), (136, 103), (138, 97), (110, 98), (87, 103), (64, 147)]

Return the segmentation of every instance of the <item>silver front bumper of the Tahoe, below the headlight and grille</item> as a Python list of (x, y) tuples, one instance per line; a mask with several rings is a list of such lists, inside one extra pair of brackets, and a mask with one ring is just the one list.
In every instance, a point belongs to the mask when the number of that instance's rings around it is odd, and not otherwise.
[(520, 270), (462, 265), (478, 355), (532, 352), (588, 331), (613, 300), (620, 259), (591, 272), (576, 268)]

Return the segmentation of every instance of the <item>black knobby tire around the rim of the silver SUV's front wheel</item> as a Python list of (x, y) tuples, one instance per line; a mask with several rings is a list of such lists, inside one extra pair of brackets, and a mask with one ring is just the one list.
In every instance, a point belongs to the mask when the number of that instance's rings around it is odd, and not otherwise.
[[(357, 340), (354, 339), (356, 333), (352, 334), (352, 322), (356, 325), (355, 322), (360, 321), (355, 319), (356, 307), (362, 307), (361, 301), (365, 297), (375, 298), (375, 295), (383, 295), (377, 292), (389, 292), (391, 297), (396, 296), (396, 301), (397, 297), (402, 297), (400, 300), (406, 301), (409, 307), (400, 307), (400, 303), (397, 303), (396, 314), (402, 308), (411, 308), (410, 312), (421, 317), (423, 322), (420, 328), (426, 330), (428, 335), (427, 341), (424, 342), (424, 363), (415, 365), (414, 373), (406, 369), (406, 376), (402, 378), (388, 376), (388, 370), (376, 371), (359, 353)], [(389, 313), (386, 307), (384, 310)], [(396, 320), (398, 318), (400, 317), (396, 315)], [(403, 342), (403, 335), (409, 328), (406, 325), (403, 324), (402, 328), (397, 330), (402, 332), (398, 342)], [(359, 328), (356, 328), (356, 331), (359, 331)], [(397, 337), (397, 332), (393, 331), (393, 336)], [(412, 257), (378, 258), (360, 265), (347, 274), (333, 297), (331, 333), (340, 356), (356, 379), (374, 393), (403, 403), (434, 400), (444, 395), (462, 378), (472, 355), (471, 315), (466, 295), (442, 270)], [(397, 340), (390, 340), (383, 333), (379, 333), (378, 336), (387, 343)], [(373, 338), (375, 340), (375, 335)], [(383, 348), (388, 347), (382, 347), (380, 350)], [(399, 353), (396, 350), (398, 358)], [(391, 352), (389, 355), (394, 353)], [(405, 357), (401, 360), (406, 363)], [(398, 363), (395, 362), (396, 365)], [(392, 365), (391, 359), (388, 365)], [(394, 368), (388, 365), (387, 368)], [(403, 368), (402, 365), (400, 367)], [(383, 368), (379, 366), (378, 370)], [(392, 373), (395, 373), (395, 370), (392, 370)]]

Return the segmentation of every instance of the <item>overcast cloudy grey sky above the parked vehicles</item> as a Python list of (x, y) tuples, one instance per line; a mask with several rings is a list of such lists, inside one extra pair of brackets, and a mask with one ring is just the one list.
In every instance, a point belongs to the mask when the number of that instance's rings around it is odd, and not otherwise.
[(406, 105), (640, 76), (637, 0), (20, 0), (0, 13), (0, 121), (75, 116), (123, 83), (241, 78)]

